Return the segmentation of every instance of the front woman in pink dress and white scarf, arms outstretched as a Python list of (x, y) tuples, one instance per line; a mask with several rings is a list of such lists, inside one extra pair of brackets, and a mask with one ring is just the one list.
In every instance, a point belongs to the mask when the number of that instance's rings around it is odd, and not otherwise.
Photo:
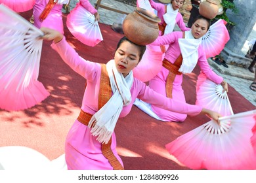
[(211, 110), (168, 99), (133, 78), (132, 70), (142, 58), (145, 46), (123, 37), (114, 59), (100, 64), (81, 58), (58, 31), (45, 27), (41, 30), (45, 33), (43, 39), (53, 40), (53, 49), (87, 80), (81, 112), (66, 137), (68, 169), (123, 169), (114, 128), (118, 118), (130, 112), (137, 97), (174, 112), (207, 114), (215, 120), (220, 117)]

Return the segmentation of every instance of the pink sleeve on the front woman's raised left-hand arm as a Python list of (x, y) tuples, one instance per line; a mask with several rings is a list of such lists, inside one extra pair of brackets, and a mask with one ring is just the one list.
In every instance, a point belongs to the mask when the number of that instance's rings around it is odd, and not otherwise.
[(58, 52), (63, 61), (67, 63), (76, 73), (83, 76), (87, 80), (95, 79), (95, 72), (98, 71), (96, 67), (100, 67), (100, 64), (81, 58), (77, 52), (75, 52), (74, 48), (68, 44), (65, 37), (63, 37), (62, 41), (60, 42), (53, 42), (51, 47)]

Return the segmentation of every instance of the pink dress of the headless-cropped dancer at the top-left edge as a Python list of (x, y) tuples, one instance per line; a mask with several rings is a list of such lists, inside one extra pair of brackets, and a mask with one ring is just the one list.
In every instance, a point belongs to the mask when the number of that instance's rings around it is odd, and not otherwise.
[[(62, 22), (62, 5), (67, 2), (63, 1), (63, 4), (56, 4), (54, 5), (53, 9), (51, 9), (51, 12), (48, 14), (47, 18), (41, 22), (39, 20), (39, 16), (45, 9), (47, 3), (49, 0), (36, 0), (35, 5), (33, 6), (33, 17), (34, 17), (34, 25), (37, 28), (40, 27), (48, 27), (50, 29), (54, 29), (56, 31), (59, 31), (60, 33), (64, 34), (63, 29), (63, 22)], [(58, 1), (61, 2), (61, 1)], [(81, 5), (85, 7), (89, 12), (92, 14), (95, 14), (97, 10), (91, 5), (89, 0), (80, 0)]]

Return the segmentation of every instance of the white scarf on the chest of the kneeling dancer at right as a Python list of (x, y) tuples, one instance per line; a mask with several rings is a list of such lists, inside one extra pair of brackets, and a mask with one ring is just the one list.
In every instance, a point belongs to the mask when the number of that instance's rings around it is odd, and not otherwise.
[(191, 73), (198, 63), (198, 47), (202, 42), (200, 39), (195, 39), (190, 31), (185, 31), (185, 39), (179, 39), (179, 46), (182, 54), (182, 64), (179, 71), (181, 73)]

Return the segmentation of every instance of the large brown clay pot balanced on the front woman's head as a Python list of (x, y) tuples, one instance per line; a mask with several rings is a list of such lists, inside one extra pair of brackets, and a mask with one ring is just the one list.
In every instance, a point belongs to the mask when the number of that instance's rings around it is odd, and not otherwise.
[(152, 12), (137, 7), (123, 20), (123, 33), (135, 44), (150, 44), (158, 37), (160, 22), (160, 18)]

